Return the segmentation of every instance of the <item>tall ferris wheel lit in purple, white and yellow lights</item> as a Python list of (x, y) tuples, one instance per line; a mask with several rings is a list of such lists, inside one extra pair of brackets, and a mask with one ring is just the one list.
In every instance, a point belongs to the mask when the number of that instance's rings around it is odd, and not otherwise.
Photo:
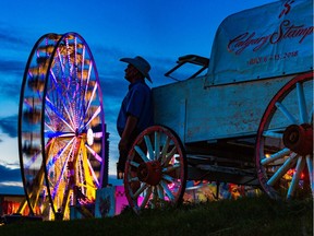
[(22, 208), (44, 220), (68, 220), (70, 205), (93, 204), (104, 184), (105, 143), (102, 95), (88, 45), (76, 33), (41, 36), (20, 96)]

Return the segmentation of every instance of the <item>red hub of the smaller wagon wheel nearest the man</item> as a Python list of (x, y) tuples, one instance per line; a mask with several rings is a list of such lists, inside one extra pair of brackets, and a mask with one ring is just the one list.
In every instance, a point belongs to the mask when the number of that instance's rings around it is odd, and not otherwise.
[(161, 165), (158, 161), (141, 163), (137, 168), (137, 177), (141, 181), (156, 186), (161, 179)]

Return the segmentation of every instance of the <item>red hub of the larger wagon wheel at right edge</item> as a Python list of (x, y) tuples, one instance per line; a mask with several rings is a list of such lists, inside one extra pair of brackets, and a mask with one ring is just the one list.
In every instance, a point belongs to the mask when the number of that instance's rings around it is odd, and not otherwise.
[(283, 144), (300, 155), (313, 153), (313, 126), (310, 123), (291, 125), (283, 132)]

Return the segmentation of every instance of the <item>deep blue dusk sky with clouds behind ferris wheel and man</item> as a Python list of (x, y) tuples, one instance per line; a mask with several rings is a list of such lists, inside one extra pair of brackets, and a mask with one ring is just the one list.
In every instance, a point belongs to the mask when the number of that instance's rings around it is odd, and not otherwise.
[(23, 193), (17, 150), (20, 90), (28, 55), (41, 35), (75, 32), (90, 47), (110, 132), (109, 168), (116, 175), (116, 119), (128, 90), (125, 63), (119, 59), (141, 55), (150, 62), (152, 87), (170, 83), (164, 74), (178, 57), (210, 57), (216, 30), (225, 17), (269, 2), (274, 0), (2, 1), (0, 193)]

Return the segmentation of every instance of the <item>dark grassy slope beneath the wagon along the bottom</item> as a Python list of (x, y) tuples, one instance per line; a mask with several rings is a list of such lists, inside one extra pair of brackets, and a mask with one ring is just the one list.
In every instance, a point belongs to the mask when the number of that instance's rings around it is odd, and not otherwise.
[(120, 215), (63, 222), (24, 222), (0, 227), (0, 236), (194, 236), (194, 235), (313, 235), (313, 200), (281, 202), (244, 198), (180, 208), (146, 210)]

